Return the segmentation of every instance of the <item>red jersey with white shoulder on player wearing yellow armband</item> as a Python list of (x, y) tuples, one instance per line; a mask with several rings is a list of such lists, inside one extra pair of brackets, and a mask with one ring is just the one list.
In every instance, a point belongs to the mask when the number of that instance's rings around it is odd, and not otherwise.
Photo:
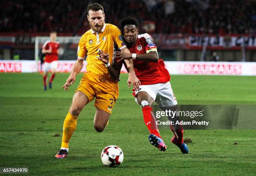
[[(156, 45), (151, 35), (145, 33), (138, 35), (136, 44), (129, 48), (131, 53), (145, 54), (150, 51), (156, 51)], [(166, 70), (164, 61), (146, 62), (142, 60), (133, 60), (133, 67), (141, 85), (166, 83), (170, 80), (168, 70)]]

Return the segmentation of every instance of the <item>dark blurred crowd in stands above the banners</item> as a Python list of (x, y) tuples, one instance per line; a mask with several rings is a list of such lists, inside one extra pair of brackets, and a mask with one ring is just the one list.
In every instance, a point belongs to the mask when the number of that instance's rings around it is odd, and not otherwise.
[[(97, 0), (106, 22), (117, 26), (136, 17), (141, 32), (151, 33), (256, 33), (255, 0)], [(72, 33), (88, 0), (8, 0), (0, 3), (0, 32)], [(78, 33), (90, 27), (85, 18)]]

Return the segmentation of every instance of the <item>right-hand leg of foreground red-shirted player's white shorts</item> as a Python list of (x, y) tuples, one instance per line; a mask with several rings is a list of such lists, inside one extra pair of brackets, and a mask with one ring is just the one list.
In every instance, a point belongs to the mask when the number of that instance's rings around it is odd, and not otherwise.
[(156, 102), (160, 107), (175, 106), (178, 104), (170, 82), (161, 84), (160, 90), (156, 96)]

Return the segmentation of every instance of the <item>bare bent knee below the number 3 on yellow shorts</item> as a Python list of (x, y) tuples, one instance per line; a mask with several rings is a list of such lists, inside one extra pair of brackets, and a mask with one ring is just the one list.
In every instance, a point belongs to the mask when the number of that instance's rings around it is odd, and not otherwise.
[(110, 117), (110, 113), (100, 108), (96, 108), (94, 122), (93, 122), (94, 128), (98, 132), (102, 132), (108, 123), (109, 117)]

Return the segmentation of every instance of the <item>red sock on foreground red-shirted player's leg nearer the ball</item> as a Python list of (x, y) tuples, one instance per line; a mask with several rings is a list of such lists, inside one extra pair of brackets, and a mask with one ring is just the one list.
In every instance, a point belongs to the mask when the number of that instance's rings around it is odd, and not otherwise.
[(145, 106), (142, 108), (142, 111), (144, 122), (148, 128), (149, 133), (154, 134), (159, 138), (162, 138), (158, 131), (158, 126), (156, 124), (156, 118), (153, 113), (153, 108), (151, 108), (150, 106)]

